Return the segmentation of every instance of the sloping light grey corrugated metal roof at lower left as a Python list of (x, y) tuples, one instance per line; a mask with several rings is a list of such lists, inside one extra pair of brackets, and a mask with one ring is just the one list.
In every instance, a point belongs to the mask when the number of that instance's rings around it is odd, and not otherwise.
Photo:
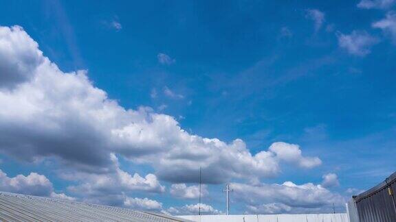
[(188, 221), (166, 214), (0, 192), (0, 221)]

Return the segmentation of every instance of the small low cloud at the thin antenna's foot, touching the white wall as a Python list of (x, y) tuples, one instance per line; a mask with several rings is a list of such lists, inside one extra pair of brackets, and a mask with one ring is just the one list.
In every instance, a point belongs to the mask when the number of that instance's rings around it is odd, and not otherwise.
[(201, 208), (201, 214), (223, 214), (220, 210), (216, 210), (208, 204), (190, 204), (182, 207), (171, 207), (167, 211), (173, 215), (189, 215), (198, 214), (199, 208)]

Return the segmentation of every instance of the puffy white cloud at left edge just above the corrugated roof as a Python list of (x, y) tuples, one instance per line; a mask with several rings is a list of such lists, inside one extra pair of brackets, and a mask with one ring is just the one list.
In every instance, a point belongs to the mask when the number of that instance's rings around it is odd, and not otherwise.
[(45, 175), (38, 173), (30, 173), (27, 176), (20, 174), (15, 177), (8, 177), (0, 169), (0, 190), (10, 193), (74, 200), (73, 197), (68, 197), (64, 193), (55, 193), (52, 182)]

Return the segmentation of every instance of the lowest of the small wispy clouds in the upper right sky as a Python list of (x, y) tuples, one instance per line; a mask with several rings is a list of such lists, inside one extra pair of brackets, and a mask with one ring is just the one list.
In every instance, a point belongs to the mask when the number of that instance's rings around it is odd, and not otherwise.
[(338, 45), (355, 56), (366, 56), (378, 39), (367, 32), (353, 31), (351, 34), (338, 34)]

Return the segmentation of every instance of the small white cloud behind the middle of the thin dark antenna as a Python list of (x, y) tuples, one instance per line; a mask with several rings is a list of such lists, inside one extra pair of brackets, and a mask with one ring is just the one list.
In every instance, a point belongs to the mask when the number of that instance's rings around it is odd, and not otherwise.
[[(208, 195), (207, 186), (201, 185), (201, 197)], [(186, 186), (186, 184), (172, 184), (170, 186), (170, 194), (182, 199), (198, 199), (199, 185)]]

